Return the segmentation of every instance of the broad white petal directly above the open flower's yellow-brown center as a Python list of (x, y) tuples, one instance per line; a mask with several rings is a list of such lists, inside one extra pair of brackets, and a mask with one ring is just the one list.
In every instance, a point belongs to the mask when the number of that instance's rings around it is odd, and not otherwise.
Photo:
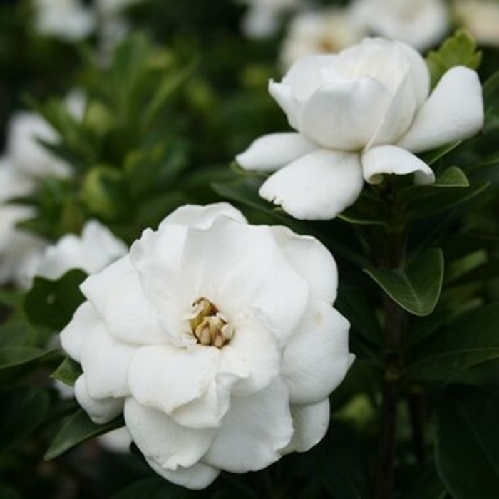
[[(229, 321), (255, 317), (277, 337), (294, 330), (307, 306), (308, 287), (276, 244), (272, 229), (217, 220), (210, 231), (190, 230), (182, 287), (210, 299)], [(290, 292), (292, 290), (292, 292)]]

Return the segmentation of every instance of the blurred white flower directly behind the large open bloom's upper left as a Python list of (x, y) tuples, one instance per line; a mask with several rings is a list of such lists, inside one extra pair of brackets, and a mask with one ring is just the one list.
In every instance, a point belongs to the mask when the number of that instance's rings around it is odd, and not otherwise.
[(56, 244), (48, 246), (31, 270), (31, 277), (56, 280), (71, 269), (93, 274), (126, 252), (127, 245), (108, 227), (97, 220), (89, 220), (80, 236), (66, 234)]

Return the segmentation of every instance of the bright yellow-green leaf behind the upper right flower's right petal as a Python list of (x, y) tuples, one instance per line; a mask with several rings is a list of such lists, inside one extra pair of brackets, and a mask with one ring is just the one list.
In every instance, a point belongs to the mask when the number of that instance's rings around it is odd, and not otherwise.
[(477, 51), (476, 43), (468, 31), (460, 29), (447, 38), (438, 48), (426, 57), (430, 70), (431, 86), (436, 86), (441, 76), (454, 66), (466, 66), (477, 69), (482, 61), (482, 53)]

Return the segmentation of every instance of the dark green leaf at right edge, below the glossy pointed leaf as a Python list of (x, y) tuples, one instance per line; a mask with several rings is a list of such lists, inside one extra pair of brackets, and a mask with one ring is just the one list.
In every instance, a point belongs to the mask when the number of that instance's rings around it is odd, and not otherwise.
[(442, 381), (499, 358), (499, 304), (458, 317), (407, 352), (407, 373), (420, 381)]

